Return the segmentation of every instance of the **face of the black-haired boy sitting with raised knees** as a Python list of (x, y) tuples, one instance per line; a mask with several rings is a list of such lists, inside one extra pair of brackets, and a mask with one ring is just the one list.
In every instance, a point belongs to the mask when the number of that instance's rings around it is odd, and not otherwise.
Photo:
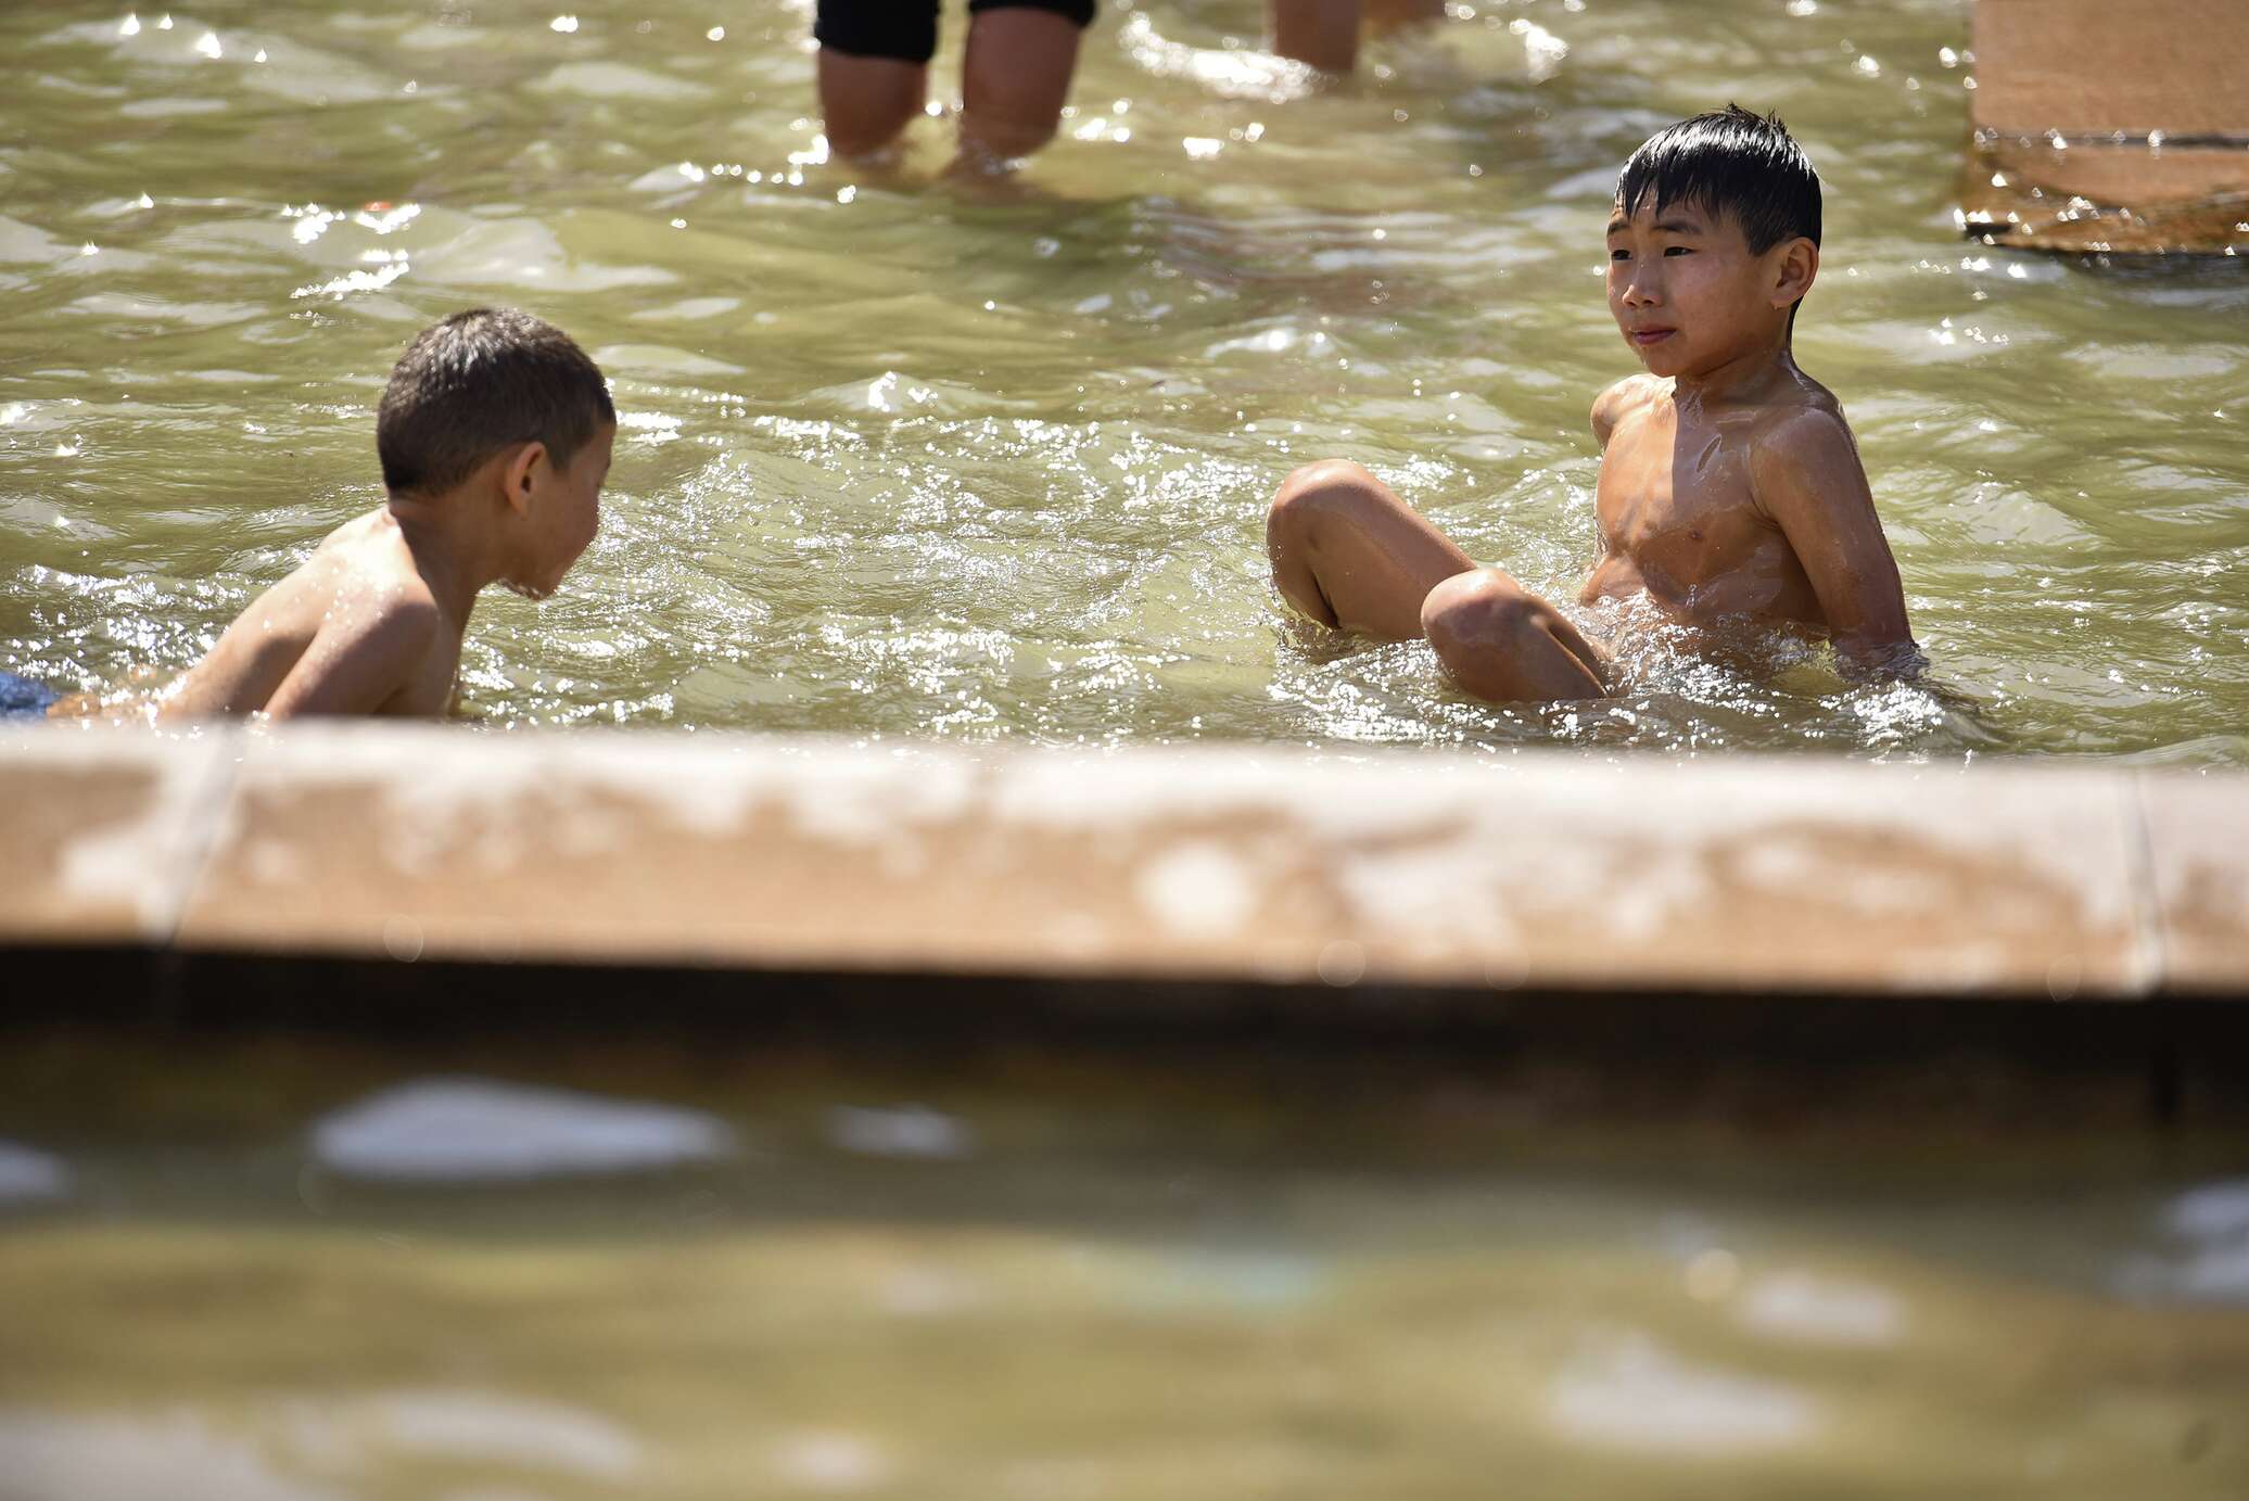
[(1653, 376), (1698, 376), (1723, 367), (1788, 326), (1792, 245), (1750, 252), (1732, 214), (1696, 203), (1608, 216), (1608, 313)]

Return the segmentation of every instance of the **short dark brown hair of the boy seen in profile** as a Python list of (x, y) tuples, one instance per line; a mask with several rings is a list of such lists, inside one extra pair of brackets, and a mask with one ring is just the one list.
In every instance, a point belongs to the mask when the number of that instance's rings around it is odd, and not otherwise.
[(382, 488), (443, 495), (511, 443), (569, 466), (614, 421), (600, 367), (567, 333), (515, 308), (454, 313), (414, 335), (382, 387)]

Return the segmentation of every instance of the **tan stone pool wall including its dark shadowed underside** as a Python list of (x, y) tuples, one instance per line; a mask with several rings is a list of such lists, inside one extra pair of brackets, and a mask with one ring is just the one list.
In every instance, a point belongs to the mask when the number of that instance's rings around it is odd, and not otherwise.
[(1340, 1044), (1601, 1112), (2236, 1121), (2245, 835), (2249, 776), (2119, 765), (38, 727), (0, 1026)]

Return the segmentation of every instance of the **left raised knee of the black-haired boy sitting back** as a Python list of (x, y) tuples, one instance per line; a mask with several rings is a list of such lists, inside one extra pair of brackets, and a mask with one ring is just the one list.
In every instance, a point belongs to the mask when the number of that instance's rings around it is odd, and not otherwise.
[(1291, 605), (1343, 630), (1410, 641), (1421, 601), (1475, 560), (1388, 484), (1347, 459), (1291, 473), (1266, 511), (1273, 585)]

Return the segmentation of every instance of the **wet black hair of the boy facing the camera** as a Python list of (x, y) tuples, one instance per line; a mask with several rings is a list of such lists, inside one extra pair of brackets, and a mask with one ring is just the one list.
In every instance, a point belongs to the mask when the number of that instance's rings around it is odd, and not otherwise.
[(1797, 236), (1819, 243), (1819, 173), (1779, 115), (1752, 115), (1738, 104), (1664, 126), (1640, 144), (1617, 176), (1617, 203), (1691, 203), (1732, 214), (1765, 254)]

